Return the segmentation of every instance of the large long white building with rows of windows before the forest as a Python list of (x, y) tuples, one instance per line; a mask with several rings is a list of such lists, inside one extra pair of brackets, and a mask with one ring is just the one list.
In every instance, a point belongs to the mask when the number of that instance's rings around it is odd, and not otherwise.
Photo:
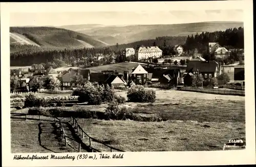
[(140, 47), (138, 51), (138, 60), (148, 58), (160, 58), (162, 57), (162, 50), (157, 46)]

